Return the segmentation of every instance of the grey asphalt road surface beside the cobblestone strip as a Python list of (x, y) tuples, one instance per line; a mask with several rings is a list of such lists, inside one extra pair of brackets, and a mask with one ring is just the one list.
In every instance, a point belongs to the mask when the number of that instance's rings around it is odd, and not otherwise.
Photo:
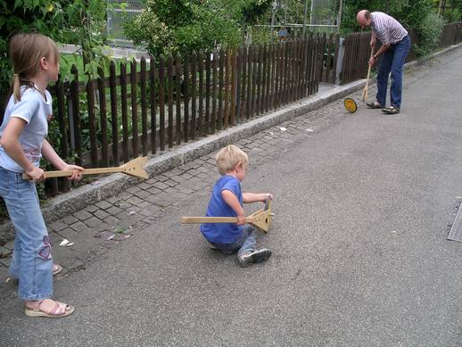
[[(406, 79), (399, 115), (359, 111), (280, 148), (244, 190), (275, 194), (267, 263), (241, 269), (184, 215), (63, 278), (65, 319), (1, 303), (1, 345), (462, 345), (462, 50)], [(343, 112), (343, 110), (338, 110)], [(252, 206), (249, 211), (255, 210)]]

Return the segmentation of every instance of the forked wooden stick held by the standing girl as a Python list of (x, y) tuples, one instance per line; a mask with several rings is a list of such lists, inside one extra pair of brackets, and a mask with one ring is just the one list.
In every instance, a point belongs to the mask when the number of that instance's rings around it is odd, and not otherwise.
[[(143, 166), (147, 161), (147, 157), (136, 158), (133, 161), (128, 161), (122, 166), (115, 168), (96, 168), (96, 169), (85, 169), (82, 171), (82, 175), (101, 175), (114, 172), (122, 172), (127, 175), (136, 177), (136, 178), (149, 178), (146, 171), (144, 171)], [(61, 171), (45, 171), (46, 178), (63, 178), (72, 176), (72, 170), (61, 170)], [(30, 179), (28, 174), (22, 174), (22, 178)]]

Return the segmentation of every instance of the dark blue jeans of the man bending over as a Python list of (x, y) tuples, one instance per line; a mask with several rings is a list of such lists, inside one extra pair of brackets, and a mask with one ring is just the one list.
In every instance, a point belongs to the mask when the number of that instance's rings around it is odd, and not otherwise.
[(392, 72), (392, 87), (390, 87), (390, 100), (392, 106), (400, 108), (402, 94), (402, 67), (410, 49), (410, 38), (407, 35), (400, 42), (390, 45), (382, 55), (382, 62), (377, 74), (377, 102), (386, 104), (386, 89), (388, 75)]

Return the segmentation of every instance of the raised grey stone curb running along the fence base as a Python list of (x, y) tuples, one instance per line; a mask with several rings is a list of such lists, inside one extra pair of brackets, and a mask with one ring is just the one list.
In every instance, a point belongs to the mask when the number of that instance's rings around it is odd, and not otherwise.
[[(405, 68), (416, 66), (442, 54), (448, 54), (460, 46), (462, 46), (462, 44), (453, 45), (418, 61), (408, 62)], [(375, 78), (371, 78), (371, 82), (374, 81)], [(224, 145), (233, 144), (245, 137), (259, 133), (266, 128), (274, 127), (285, 120), (292, 120), (304, 113), (318, 110), (327, 103), (332, 103), (343, 96), (350, 95), (360, 90), (365, 85), (366, 80), (360, 79), (345, 86), (334, 87), (334, 89), (326, 91), (322, 95), (313, 95), (299, 102), (291, 103), (290, 105), (276, 110), (276, 112), (239, 124), (234, 128), (227, 128), (219, 131), (217, 134), (207, 136), (192, 144), (181, 145), (178, 148), (162, 153), (149, 160), (144, 166), (144, 169), (146, 169), (150, 177), (159, 175), (177, 166), (186, 164), (189, 161), (194, 161), (194, 159), (211, 153)], [(93, 184), (78, 187), (69, 193), (51, 199), (50, 202), (42, 208), (44, 219), (48, 223), (57, 219), (62, 219), (70, 215), (70, 213), (84, 209), (89, 204), (94, 204), (119, 194), (128, 188), (128, 186), (136, 185), (138, 182), (139, 180), (136, 178), (117, 173), (110, 177), (102, 178)], [(14, 232), (10, 221), (0, 226), (0, 241), (9, 241), (13, 237)]]

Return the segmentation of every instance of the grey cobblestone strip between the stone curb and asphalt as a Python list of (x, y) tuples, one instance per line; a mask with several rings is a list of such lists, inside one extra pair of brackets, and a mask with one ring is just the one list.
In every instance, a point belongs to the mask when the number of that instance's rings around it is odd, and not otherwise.
[[(369, 95), (374, 94), (375, 87), (371, 86)], [(361, 92), (350, 97), (359, 101)], [(359, 102), (359, 107), (365, 106)], [(316, 135), (319, 130), (328, 128), (348, 114), (344, 110), (343, 99), (340, 99), (240, 140), (236, 145), (249, 154), (252, 168), (284, 155), (291, 145), (296, 145), (305, 136)], [(160, 219), (166, 209), (178, 208), (182, 200), (192, 198), (195, 192), (209, 192), (219, 176), (214, 156), (215, 153), (202, 156), (48, 225), (54, 261), (63, 267), (57, 279), (68, 276), (72, 271), (85, 269), (87, 262), (103, 257), (105, 251), (117, 247), (120, 242), (129, 242), (129, 237), (143, 232), (145, 227)], [(63, 239), (72, 244), (60, 246)], [(3, 289), (16, 283), (16, 280), (8, 279), (7, 274), (11, 262), (8, 254), (11, 254), (12, 248), (13, 242), (0, 247), (0, 253), (3, 254), (0, 259)], [(6, 294), (2, 292), (0, 290), (0, 296)], [(12, 291), (8, 290), (8, 293)]]

